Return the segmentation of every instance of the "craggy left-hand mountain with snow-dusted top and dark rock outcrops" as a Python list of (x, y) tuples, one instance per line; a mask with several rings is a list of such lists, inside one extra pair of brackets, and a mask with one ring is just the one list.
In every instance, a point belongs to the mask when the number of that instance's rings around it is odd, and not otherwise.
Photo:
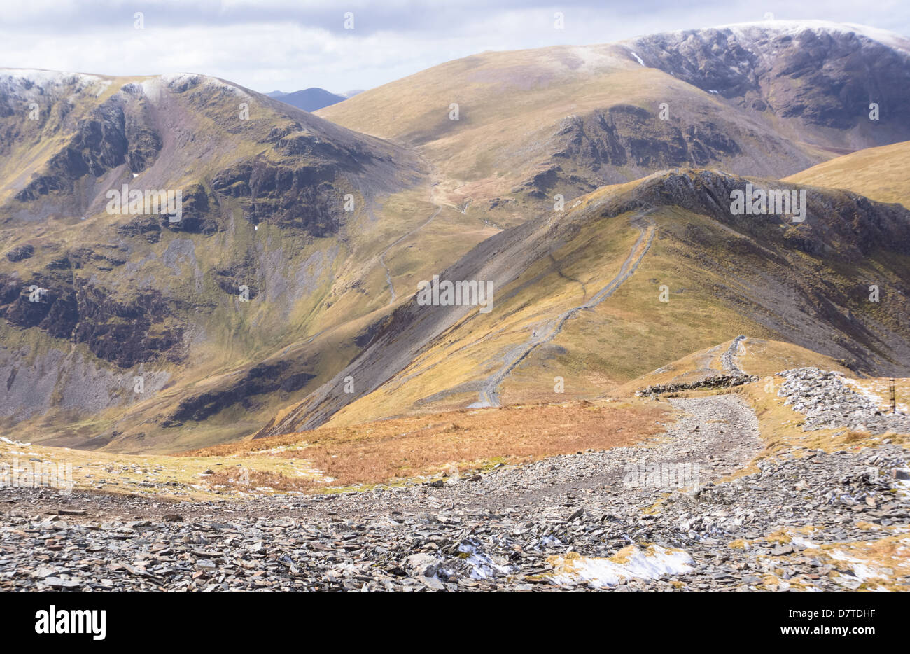
[[(242, 437), (496, 231), (441, 206), (406, 149), (223, 80), (5, 71), (0, 87), (5, 434)], [(181, 190), (182, 219), (109, 214), (124, 184)]]

